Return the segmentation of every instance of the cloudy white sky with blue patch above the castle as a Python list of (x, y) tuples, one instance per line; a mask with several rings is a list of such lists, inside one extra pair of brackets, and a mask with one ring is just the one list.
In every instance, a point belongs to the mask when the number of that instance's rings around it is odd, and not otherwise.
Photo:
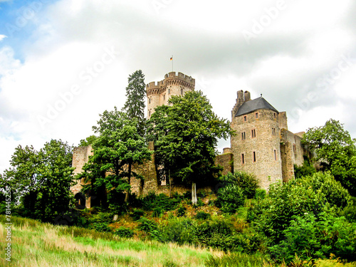
[(352, 0), (0, 0), (0, 173), (18, 145), (78, 145), (125, 103), (128, 75), (162, 80), (172, 55), (220, 117), (249, 90), (293, 132), (333, 118), (356, 137), (355, 14)]

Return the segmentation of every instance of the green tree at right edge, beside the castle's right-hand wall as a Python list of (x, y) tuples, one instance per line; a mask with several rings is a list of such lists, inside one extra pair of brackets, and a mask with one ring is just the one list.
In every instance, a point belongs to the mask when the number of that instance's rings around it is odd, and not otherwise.
[(355, 139), (343, 125), (330, 119), (322, 127), (313, 127), (303, 140), (315, 152), (315, 161), (321, 162), (324, 170), (330, 170), (335, 179), (356, 194), (356, 146)]

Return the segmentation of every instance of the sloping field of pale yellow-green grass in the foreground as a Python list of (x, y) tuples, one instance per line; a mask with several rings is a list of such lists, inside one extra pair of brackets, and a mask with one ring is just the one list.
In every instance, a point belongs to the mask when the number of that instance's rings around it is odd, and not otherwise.
[[(4, 216), (0, 216), (1, 251), (6, 249)], [(120, 239), (77, 227), (53, 226), (11, 217), (11, 263), (1, 253), (0, 266), (204, 266), (221, 252), (156, 241)]]

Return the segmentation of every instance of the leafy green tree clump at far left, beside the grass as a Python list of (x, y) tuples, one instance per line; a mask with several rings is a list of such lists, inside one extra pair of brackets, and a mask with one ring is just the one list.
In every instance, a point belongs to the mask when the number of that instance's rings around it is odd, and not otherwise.
[(53, 221), (68, 210), (73, 195), (73, 147), (61, 140), (46, 142), (41, 150), (31, 146), (16, 147), (11, 167), (1, 184), (14, 190), (23, 205), (23, 215), (42, 221)]

